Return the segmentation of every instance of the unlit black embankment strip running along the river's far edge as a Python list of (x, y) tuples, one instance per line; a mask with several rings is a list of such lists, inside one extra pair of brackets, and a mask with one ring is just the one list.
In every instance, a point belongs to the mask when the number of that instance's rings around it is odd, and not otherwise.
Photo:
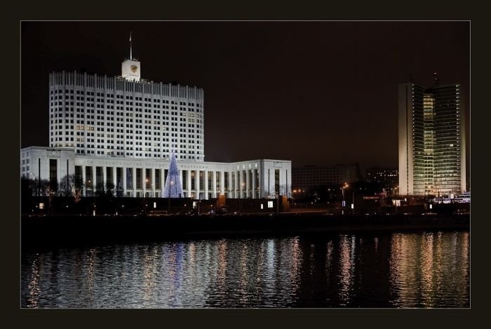
[(469, 230), (470, 215), (86, 216), (21, 218), (22, 246), (377, 231)]

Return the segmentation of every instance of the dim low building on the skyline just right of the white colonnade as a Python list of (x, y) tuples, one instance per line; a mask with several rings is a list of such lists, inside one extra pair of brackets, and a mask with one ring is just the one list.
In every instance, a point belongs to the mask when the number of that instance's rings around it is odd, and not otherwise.
[(292, 189), (310, 189), (323, 185), (340, 185), (360, 180), (358, 163), (335, 166), (304, 166), (292, 169)]

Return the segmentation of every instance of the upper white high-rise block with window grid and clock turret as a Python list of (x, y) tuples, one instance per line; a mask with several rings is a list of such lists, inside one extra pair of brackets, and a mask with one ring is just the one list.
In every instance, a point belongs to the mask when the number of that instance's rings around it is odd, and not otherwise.
[(49, 74), (49, 145), (77, 155), (204, 161), (203, 110), (203, 89), (140, 79), (135, 60), (122, 76)]

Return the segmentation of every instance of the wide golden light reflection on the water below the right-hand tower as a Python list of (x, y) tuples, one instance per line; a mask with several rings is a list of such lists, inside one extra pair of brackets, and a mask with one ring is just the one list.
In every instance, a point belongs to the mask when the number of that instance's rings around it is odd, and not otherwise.
[(390, 283), (397, 307), (469, 307), (469, 232), (395, 234)]

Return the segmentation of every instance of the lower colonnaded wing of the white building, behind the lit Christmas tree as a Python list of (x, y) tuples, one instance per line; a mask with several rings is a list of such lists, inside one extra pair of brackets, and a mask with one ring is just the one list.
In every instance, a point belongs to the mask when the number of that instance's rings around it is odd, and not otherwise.
[[(67, 173), (76, 175), (76, 180), (83, 182), (85, 196), (102, 187), (113, 189), (119, 196), (161, 197), (169, 166), (168, 159), (80, 156), (69, 147), (26, 147), (21, 150), (21, 161), (22, 175), (34, 182), (61, 182)], [(291, 161), (182, 160), (177, 161), (177, 166), (184, 196), (194, 199), (219, 195), (241, 199), (274, 198), (276, 194), (291, 196)]]

